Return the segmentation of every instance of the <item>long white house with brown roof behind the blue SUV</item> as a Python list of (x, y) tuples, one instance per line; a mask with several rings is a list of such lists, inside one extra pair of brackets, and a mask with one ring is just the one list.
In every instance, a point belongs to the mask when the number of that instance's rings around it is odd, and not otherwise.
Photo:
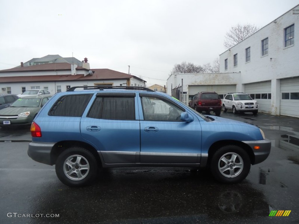
[(28, 89), (46, 89), (52, 94), (73, 86), (145, 86), (136, 76), (111, 69), (90, 69), (87, 58), (82, 66), (68, 62), (44, 63), (0, 70), (0, 93), (20, 94)]

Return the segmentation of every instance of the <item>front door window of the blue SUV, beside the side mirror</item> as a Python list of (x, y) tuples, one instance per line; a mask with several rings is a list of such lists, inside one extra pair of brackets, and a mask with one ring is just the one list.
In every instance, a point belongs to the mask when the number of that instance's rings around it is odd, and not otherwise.
[(172, 102), (151, 96), (141, 97), (144, 120), (147, 121), (181, 121), (184, 109)]

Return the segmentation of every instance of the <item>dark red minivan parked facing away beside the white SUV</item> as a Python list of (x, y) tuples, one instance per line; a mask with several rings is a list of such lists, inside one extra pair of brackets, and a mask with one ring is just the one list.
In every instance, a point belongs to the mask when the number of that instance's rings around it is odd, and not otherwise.
[(195, 109), (199, 113), (202, 113), (202, 111), (205, 111), (206, 113), (213, 111), (216, 116), (219, 116), (222, 109), (222, 103), (220, 96), (216, 92), (203, 91), (193, 96), (189, 102), (189, 107)]

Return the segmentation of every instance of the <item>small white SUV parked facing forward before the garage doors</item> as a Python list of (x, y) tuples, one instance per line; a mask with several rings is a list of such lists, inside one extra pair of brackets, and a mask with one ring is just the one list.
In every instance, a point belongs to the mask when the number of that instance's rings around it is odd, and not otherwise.
[(230, 109), (233, 110), (234, 114), (238, 112), (252, 112), (253, 114), (257, 114), (259, 106), (256, 100), (253, 100), (245, 93), (228, 93), (222, 102), (223, 112)]

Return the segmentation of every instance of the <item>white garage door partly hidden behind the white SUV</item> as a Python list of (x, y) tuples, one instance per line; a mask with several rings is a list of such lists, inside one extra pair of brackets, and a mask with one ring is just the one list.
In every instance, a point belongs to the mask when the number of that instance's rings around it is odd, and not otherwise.
[(271, 113), (271, 81), (245, 84), (245, 93), (259, 103), (259, 111)]

